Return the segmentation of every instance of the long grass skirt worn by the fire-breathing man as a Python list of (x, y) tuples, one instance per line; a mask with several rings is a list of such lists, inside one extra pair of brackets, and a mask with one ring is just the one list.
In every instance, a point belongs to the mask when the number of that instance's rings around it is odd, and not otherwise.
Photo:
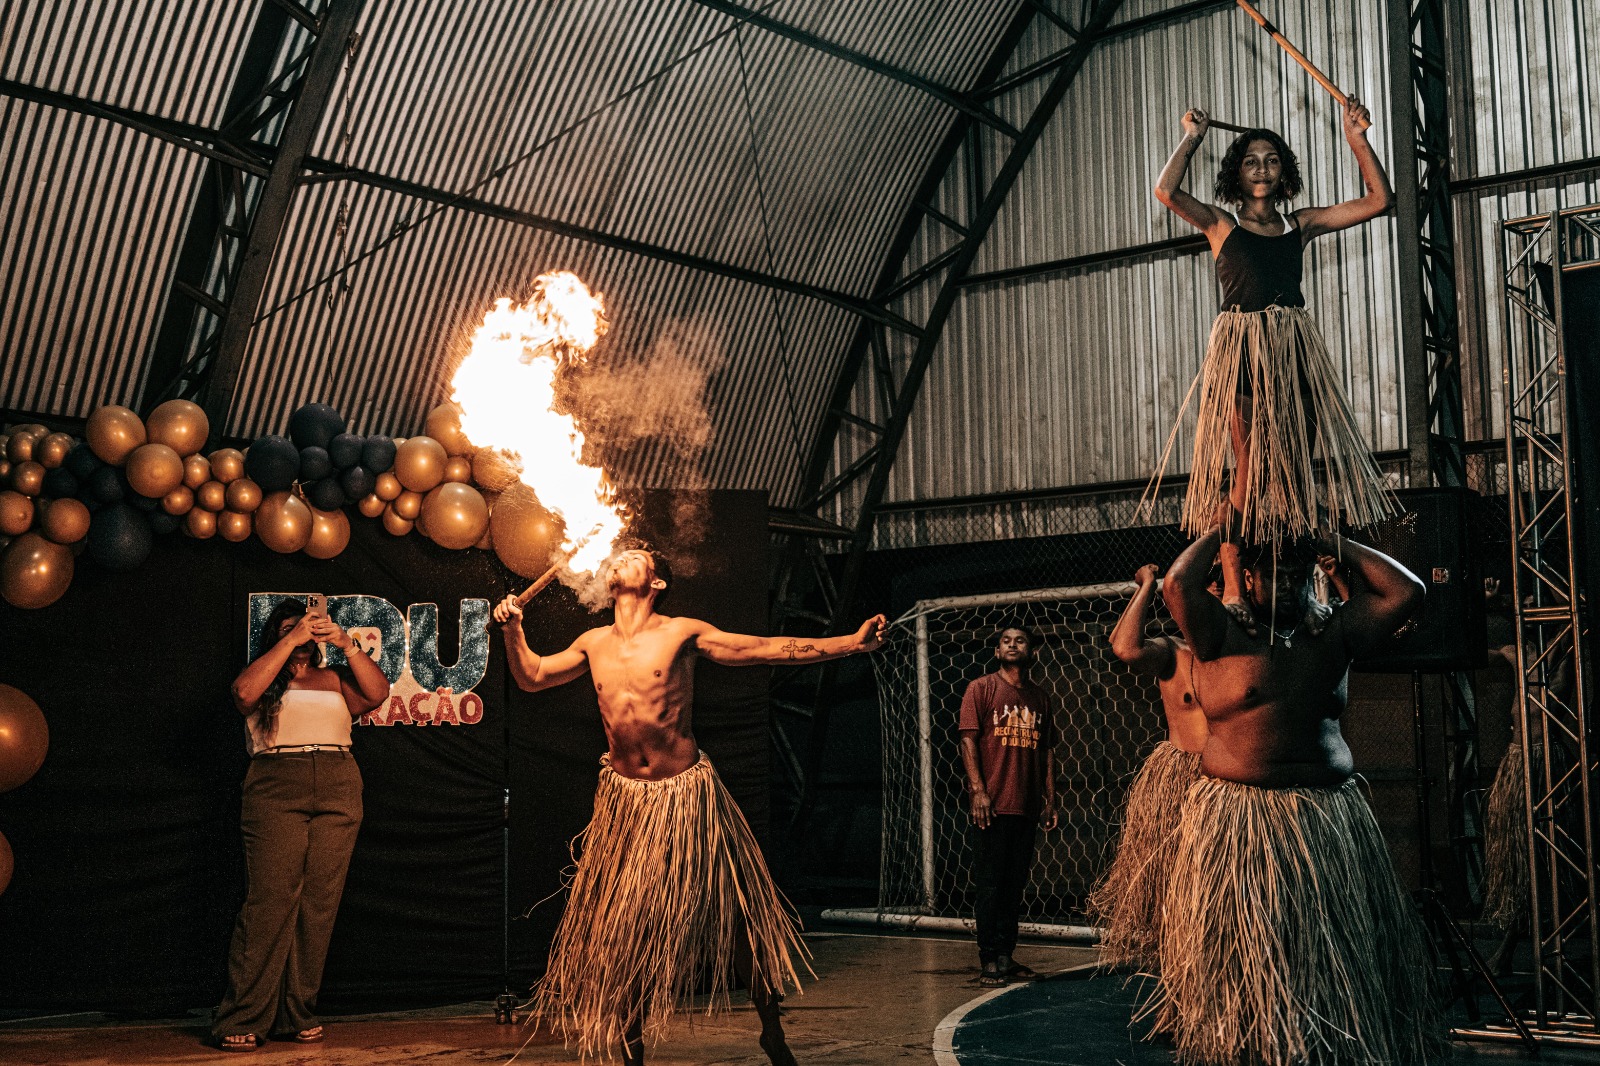
[[(728, 1007), (734, 952), (746, 941), (752, 984), (798, 984), (798, 927), (749, 823), (701, 754), (664, 781), (637, 781), (602, 759), (566, 912), (536, 991), (538, 1016), (581, 1056), (618, 1052), (645, 1012), (645, 1039), (698, 989), (707, 1013)], [(579, 842), (574, 842), (574, 852)]]

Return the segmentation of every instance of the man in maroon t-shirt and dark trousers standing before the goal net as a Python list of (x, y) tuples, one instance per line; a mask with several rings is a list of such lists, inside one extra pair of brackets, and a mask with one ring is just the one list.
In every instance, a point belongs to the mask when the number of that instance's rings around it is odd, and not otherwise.
[(962, 696), (962, 762), (978, 826), (979, 984), (1038, 976), (1014, 962), (1016, 922), (1038, 826), (1056, 828), (1056, 728), (1050, 696), (1027, 679), (1038, 640), (1021, 623), (995, 639), (1000, 669)]

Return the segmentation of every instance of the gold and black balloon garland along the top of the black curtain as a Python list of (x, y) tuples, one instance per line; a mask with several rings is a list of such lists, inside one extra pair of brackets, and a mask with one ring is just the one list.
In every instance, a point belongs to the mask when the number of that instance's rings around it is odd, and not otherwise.
[[(475, 448), (454, 403), (435, 407), (424, 432), (406, 439), (352, 434), (326, 403), (302, 405), (288, 434), (243, 451), (205, 455), (210, 434), (189, 400), (147, 418), (106, 405), (90, 415), (83, 440), (37, 423), (0, 432), (0, 597), (50, 607), (72, 584), (78, 555), (138, 570), (155, 536), (178, 530), (334, 559), (350, 543), (352, 507), (394, 536), (494, 549), (522, 575), (544, 570), (560, 544), (560, 520), (520, 485), (515, 459)], [(502, 493), (506, 514), (496, 517)]]

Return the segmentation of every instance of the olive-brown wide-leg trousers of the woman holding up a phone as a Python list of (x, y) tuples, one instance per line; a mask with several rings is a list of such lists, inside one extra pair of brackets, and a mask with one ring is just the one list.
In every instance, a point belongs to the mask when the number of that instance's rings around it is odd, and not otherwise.
[(216, 1037), (298, 1032), (314, 1002), (362, 828), (362, 771), (344, 752), (258, 755), (245, 775), (250, 893), (234, 925)]

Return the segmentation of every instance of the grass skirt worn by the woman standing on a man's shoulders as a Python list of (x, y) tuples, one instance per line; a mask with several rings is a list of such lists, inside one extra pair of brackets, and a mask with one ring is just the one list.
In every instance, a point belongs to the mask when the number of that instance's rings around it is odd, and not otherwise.
[(1211, 327), (1200, 368), (1184, 531), (1210, 530), (1229, 490), (1232, 423), (1246, 391), (1253, 395), (1250, 464), (1232, 472), (1245, 479), (1245, 541), (1280, 543), (1336, 533), (1344, 525), (1370, 527), (1398, 511), (1306, 309), (1224, 311)]

